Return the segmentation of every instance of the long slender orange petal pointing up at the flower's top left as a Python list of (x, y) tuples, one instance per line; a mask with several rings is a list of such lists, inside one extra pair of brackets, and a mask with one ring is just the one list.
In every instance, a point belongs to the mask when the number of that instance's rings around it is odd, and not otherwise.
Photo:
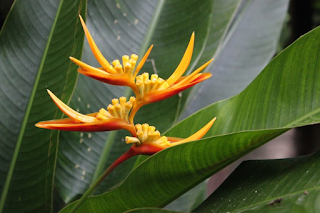
[[(99, 62), (99, 64), (101, 64), (101, 66), (103, 68), (105, 68), (106, 70), (109, 71), (109, 68), (110, 68), (109, 62), (103, 57), (103, 55), (101, 54), (100, 50), (98, 49), (96, 43), (94, 42), (92, 36), (90, 35), (90, 32), (89, 32), (86, 24), (84, 23), (81, 15), (79, 15), (79, 17), (80, 17), (80, 21), (81, 21), (81, 24), (82, 24), (82, 27), (83, 27), (83, 31), (86, 34), (89, 46), (91, 48), (91, 51), (92, 51), (94, 57), (97, 59), (97, 61)], [(111, 69), (111, 72), (112, 72), (112, 69)]]

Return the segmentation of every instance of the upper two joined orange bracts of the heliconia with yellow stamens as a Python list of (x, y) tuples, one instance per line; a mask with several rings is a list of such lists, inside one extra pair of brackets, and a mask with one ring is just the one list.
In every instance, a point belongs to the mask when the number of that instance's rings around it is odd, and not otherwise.
[(111, 65), (101, 54), (81, 16), (80, 20), (92, 53), (102, 67), (95, 68), (73, 57), (70, 57), (70, 60), (80, 67), (78, 72), (81, 74), (108, 84), (128, 86), (133, 90), (137, 101), (131, 112), (131, 123), (133, 123), (133, 117), (142, 106), (169, 98), (211, 77), (210, 73), (200, 72), (207, 67), (213, 59), (200, 66), (190, 75), (182, 77), (191, 61), (194, 47), (194, 33), (191, 35), (187, 49), (178, 67), (167, 80), (164, 80), (157, 74), (152, 74), (150, 78), (149, 73), (143, 73), (137, 76), (146, 62), (153, 45), (148, 49), (136, 68), (138, 56), (135, 54), (132, 54), (130, 58), (128, 55), (124, 55), (122, 57), (122, 65), (119, 60), (114, 60)]

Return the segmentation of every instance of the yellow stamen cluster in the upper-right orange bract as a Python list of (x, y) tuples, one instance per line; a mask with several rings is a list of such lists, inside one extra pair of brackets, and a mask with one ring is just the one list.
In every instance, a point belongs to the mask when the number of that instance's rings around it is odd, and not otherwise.
[(141, 97), (149, 91), (167, 89), (169, 87), (169, 84), (162, 78), (159, 78), (157, 74), (152, 74), (151, 79), (149, 79), (149, 73), (146, 72), (136, 77), (136, 85)]

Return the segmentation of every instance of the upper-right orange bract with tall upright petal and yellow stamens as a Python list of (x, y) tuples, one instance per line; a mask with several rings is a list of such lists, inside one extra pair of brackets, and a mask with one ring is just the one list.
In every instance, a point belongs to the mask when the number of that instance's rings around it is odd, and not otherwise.
[(211, 73), (200, 73), (206, 68), (213, 59), (203, 64), (196, 71), (192, 72), (188, 76), (182, 76), (187, 70), (193, 52), (194, 46), (194, 33), (192, 33), (188, 47), (180, 61), (180, 64), (173, 72), (173, 74), (164, 80), (159, 78), (157, 74), (152, 74), (149, 79), (149, 73), (143, 73), (136, 77), (136, 86), (139, 90), (139, 96), (137, 96), (137, 103), (132, 109), (130, 114), (130, 121), (133, 122), (133, 117), (136, 112), (146, 104), (161, 101), (171, 96), (178, 94), (179, 92), (188, 89), (195, 84), (198, 84), (212, 76)]

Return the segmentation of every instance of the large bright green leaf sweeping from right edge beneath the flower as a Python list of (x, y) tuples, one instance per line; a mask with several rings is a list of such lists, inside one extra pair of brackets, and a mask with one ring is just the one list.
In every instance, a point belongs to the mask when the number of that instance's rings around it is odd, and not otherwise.
[(88, 198), (79, 212), (162, 207), (288, 129), (319, 123), (319, 36), (320, 28), (302, 36), (239, 95), (208, 106), (166, 133), (189, 136), (216, 116), (206, 139), (149, 157), (117, 188)]

